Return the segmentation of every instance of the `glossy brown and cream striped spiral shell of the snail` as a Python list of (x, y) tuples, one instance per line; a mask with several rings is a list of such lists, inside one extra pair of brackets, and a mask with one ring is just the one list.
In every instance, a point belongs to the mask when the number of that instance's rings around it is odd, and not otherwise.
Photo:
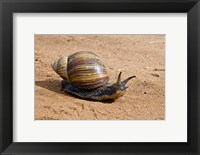
[(94, 89), (109, 80), (100, 58), (88, 51), (76, 52), (68, 58), (62, 57), (52, 63), (52, 68), (63, 79), (84, 89)]

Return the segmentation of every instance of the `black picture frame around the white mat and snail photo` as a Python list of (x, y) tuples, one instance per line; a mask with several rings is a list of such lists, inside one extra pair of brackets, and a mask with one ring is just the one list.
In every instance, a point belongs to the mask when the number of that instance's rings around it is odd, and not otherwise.
[[(0, 0), (0, 153), (2, 154), (200, 154), (199, 0)], [(13, 13), (145, 12), (188, 14), (187, 143), (13, 142)], [(199, 43), (199, 44), (198, 44)], [(81, 131), (80, 131), (81, 132)], [(51, 135), (50, 135), (51, 136)]]

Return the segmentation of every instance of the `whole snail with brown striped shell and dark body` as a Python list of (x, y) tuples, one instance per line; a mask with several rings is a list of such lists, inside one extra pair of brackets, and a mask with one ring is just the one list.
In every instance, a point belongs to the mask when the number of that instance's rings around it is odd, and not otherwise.
[(121, 81), (119, 73), (117, 81), (108, 83), (109, 77), (105, 66), (93, 52), (80, 51), (61, 57), (51, 64), (53, 70), (60, 75), (62, 90), (83, 99), (115, 100), (122, 96), (127, 82), (135, 76)]

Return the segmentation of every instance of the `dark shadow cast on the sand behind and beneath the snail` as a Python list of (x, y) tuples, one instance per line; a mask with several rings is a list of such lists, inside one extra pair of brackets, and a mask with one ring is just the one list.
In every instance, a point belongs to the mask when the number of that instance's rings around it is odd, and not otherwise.
[[(59, 80), (55, 80), (55, 81), (35, 81), (35, 85), (39, 86), (39, 87), (42, 87), (44, 89), (50, 90), (52, 92), (56, 92), (56, 93), (62, 94), (62, 95), (66, 95), (66, 96), (82, 99), (80, 97), (77, 97), (77, 96), (74, 96), (74, 95), (69, 94), (67, 92), (64, 92), (62, 90), (62, 87), (61, 87), (61, 81), (59, 81)], [(91, 100), (91, 99), (84, 99), (84, 100), (98, 102), (98, 101)], [(114, 100), (101, 101), (101, 103), (105, 103), (105, 104), (109, 104), (109, 103), (112, 103), (112, 102), (114, 102)]]

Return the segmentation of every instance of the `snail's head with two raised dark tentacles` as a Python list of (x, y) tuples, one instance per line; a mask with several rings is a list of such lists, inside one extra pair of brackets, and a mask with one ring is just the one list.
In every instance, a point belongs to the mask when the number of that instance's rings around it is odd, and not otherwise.
[(126, 84), (128, 83), (128, 81), (129, 81), (130, 79), (136, 77), (136, 76), (130, 76), (130, 77), (128, 77), (127, 79), (121, 81), (121, 74), (122, 74), (122, 72), (119, 73), (118, 78), (117, 78), (117, 81), (116, 81), (116, 83), (115, 83), (115, 87), (116, 87), (117, 93), (118, 93), (119, 95), (123, 95), (124, 91), (128, 88), (128, 87), (126, 86)]

